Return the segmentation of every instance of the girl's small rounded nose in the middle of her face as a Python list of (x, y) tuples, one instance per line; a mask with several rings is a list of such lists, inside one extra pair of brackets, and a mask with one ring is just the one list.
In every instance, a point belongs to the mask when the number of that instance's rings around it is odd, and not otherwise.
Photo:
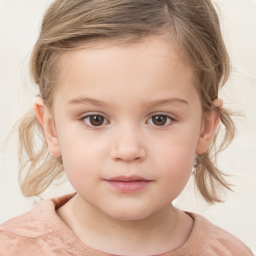
[(146, 156), (142, 146), (142, 138), (134, 130), (122, 130), (115, 132), (114, 144), (110, 156), (113, 160), (124, 162), (142, 161)]

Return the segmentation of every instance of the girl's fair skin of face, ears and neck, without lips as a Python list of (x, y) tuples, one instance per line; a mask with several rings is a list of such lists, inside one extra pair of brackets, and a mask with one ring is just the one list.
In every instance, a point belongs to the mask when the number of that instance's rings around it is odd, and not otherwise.
[[(156, 37), (70, 51), (59, 64), (52, 109), (34, 99), (49, 150), (62, 156), (77, 191), (59, 217), (80, 240), (107, 253), (152, 255), (181, 246), (193, 220), (171, 201), (219, 121), (213, 111), (202, 112), (193, 69)], [(93, 126), (88, 114), (103, 116), (102, 125)], [(163, 125), (153, 122), (157, 114), (169, 116)], [(118, 175), (150, 182), (120, 192), (106, 181)]]

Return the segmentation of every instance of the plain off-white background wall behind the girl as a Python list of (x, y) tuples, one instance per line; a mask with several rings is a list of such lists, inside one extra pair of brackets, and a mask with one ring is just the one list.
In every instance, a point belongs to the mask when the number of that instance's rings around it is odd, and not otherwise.
[[(39, 33), (42, 13), (51, 0), (0, 0), (0, 222), (32, 208), (38, 199), (24, 198), (17, 182), (16, 134), (5, 138), (18, 117), (32, 106), (36, 88), (27, 62)], [(218, 166), (232, 175), (234, 192), (224, 203), (207, 206), (195, 197), (192, 180), (174, 201), (183, 210), (205, 216), (231, 232), (256, 253), (256, 1), (217, 0), (233, 72), (220, 93), (224, 106), (243, 111), (235, 118), (237, 135), (219, 156)], [(73, 191), (68, 182), (43, 194)]]

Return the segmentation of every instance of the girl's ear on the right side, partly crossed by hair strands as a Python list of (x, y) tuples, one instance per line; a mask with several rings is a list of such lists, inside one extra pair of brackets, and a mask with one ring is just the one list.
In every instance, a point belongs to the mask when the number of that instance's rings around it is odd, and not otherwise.
[[(220, 98), (214, 99), (212, 103), (218, 108), (222, 107), (222, 99)], [(204, 112), (204, 120), (195, 150), (196, 154), (202, 154), (208, 150), (218, 123), (219, 114), (213, 109)]]

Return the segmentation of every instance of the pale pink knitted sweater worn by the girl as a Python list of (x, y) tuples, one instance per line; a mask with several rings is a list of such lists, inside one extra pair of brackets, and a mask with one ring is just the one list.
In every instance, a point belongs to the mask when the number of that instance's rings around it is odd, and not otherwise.
[[(55, 209), (73, 195), (43, 200), (29, 212), (2, 223), (0, 256), (110, 255), (80, 241), (56, 214)], [(245, 244), (230, 233), (200, 215), (189, 212), (187, 214), (194, 219), (189, 238), (182, 246), (161, 254), (162, 256), (253, 255)]]

